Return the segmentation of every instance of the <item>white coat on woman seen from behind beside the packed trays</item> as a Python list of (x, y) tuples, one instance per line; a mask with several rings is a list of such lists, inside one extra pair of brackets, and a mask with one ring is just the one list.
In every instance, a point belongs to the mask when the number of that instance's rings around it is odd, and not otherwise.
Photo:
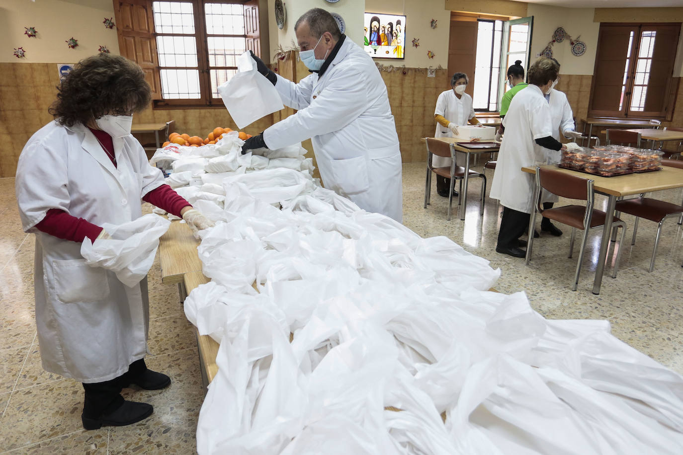
[(535, 139), (553, 135), (550, 106), (537, 86), (530, 84), (516, 93), (503, 126), (505, 135), (490, 197), (499, 199), (505, 207), (530, 214), (535, 181), (533, 174), (522, 172), (522, 167), (546, 163), (547, 149), (536, 144)]

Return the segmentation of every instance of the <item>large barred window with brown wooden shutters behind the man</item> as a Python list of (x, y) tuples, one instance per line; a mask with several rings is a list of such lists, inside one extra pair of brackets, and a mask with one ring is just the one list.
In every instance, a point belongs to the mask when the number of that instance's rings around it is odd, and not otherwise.
[(218, 87), (236, 74), (236, 58), (247, 49), (260, 55), (257, 0), (118, 0), (118, 7), (121, 53), (146, 61), (155, 106), (222, 106)]

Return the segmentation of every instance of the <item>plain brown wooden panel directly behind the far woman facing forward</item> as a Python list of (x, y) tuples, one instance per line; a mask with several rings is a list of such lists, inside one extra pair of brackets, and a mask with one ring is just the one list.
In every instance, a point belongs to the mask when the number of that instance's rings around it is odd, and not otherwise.
[(451, 20), (448, 40), (448, 78), (444, 89), (451, 88), (451, 77), (456, 72), (467, 74), (470, 83), (465, 93), (474, 96), (474, 72), (477, 57), (477, 21)]

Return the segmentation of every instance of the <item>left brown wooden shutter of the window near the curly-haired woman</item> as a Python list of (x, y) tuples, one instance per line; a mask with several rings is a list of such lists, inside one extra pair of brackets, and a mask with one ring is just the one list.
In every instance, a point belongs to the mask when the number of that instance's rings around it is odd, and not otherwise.
[(152, 87), (152, 99), (161, 100), (152, 2), (114, 0), (114, 14), (121, 55), (140, 65)]

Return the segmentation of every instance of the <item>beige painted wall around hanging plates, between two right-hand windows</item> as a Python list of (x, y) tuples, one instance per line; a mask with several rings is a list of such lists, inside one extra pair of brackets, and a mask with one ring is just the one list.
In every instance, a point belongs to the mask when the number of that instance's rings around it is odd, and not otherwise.
[(531, 61), (552, 40), (557, 27), (563, 27), (573, 38), (581, 35), (586, 52), (581, 57), (572, 55), (568, 40), (555, 43), (553, 56), (561, 65), (561, 74), (593, 74), (600, 24), (593, 22), (593, 8), (558, 8), (529, 3), (527, 14), (533, 16)]

